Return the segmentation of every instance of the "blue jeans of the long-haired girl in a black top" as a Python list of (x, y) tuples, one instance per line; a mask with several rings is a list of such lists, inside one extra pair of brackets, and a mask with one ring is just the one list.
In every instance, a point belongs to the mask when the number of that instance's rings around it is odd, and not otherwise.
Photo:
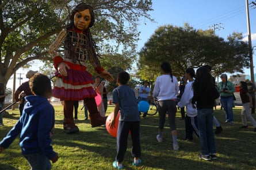
[(200, 133), (202, 155), (216, 153), (213, 134), (213, 109), (198, 109), (197, 124)]

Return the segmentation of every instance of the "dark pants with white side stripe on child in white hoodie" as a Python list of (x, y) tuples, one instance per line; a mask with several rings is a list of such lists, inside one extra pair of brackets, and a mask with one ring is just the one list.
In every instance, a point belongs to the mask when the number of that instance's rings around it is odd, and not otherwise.
[(197, 137), (199, 137), (197, 116), (189, 117), (188, 115), (186, 115), (185, 128), (186, 128), (186, 140), (193, 140), (193, 132), (196, 134)]

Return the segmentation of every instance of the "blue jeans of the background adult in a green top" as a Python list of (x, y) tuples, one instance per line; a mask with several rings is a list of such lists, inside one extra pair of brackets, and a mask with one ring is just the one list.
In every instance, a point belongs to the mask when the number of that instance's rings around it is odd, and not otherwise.
[(234, 122), (234, 117), (233, 117), (233, 102), (234, 98), (233, 96), (227, 96), (227, 97), (220, 97), (220, 102), (221, 105), (223, 106), (223, 109), (225, 110), (226, 113), (226, 120), (229, 120), (230, 122)]

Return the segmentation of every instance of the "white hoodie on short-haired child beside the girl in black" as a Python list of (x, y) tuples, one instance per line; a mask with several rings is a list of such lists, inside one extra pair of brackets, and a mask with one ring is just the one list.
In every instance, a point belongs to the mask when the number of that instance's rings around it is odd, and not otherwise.
[(192, 98), (193, 98), (193, 81), (189, 81), (184, 89), (184, 93), (181, 96), (181, 100), (178, 102), (179, 108), (184, 108), (186, 106), (186, 114), (189, 117), (197, 116), (197, 109), (192, 107)]

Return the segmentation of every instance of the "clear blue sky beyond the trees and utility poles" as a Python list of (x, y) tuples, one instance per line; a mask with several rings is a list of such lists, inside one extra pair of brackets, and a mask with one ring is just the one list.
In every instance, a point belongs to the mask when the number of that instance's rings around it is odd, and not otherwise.
[[(249, 3), (256, 2), (248, 0)], [(256, 9), (254, 5), (249, 5), (250, 29), (252, 37), (252, 46), (256, 46)], [(137, 27), (140, 33), (140, 41), (138, 42), (138, 51), (143, 48), (150, 36), (158, 27), (163, 25), (184, 26), (189, 23), (194, 29), (207, 30), (212, 29), (213, 25), (220, 29), (215, 30), (215, 34), (226, 39), (228, 35), (234, 31), (243, 33), (247, 39), (247, 18), (246, 18), (246, 0), (152, 0), (152, 9), (149, 14), (155, 20), (151, 22), (142, 18), (140, 25)], [(256, 57), (253, 57), (254, 64)], [(30, 69), (38, 70), (41, 64), (33, 64)], [(25, 73), (28, 69), (20, 69), (17, 71), (16, 77), (22, 80), (16, 80), (16, 88), (18, 85), (28, 79)], [(244, 69), (245, 74), (250, 74), (249, 69)], [(254, 69), (255, 73), (255, 69)], [(9, 80), (7, 87), (12, 88), (13, 80)]]

